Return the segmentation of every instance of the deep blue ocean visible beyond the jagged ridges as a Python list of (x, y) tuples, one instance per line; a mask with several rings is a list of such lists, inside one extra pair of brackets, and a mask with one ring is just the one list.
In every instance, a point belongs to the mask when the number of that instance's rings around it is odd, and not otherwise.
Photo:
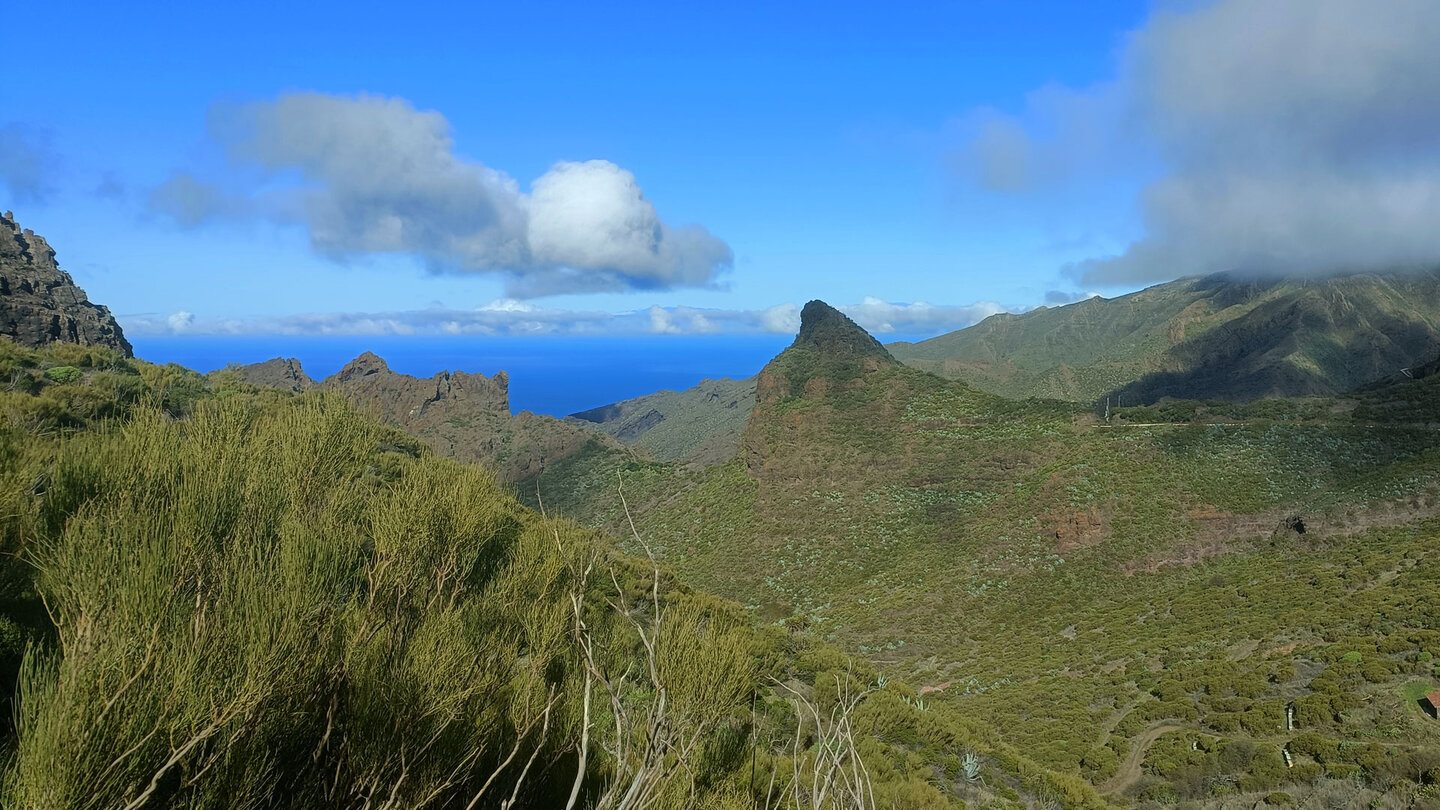
[(419, 378), (442, 370), (510, 375), (510, 406), (563, 417), (661, 389), (681, 391), (707, 378), (747, 378), (793, 340), (789, 334), (645, 337), (131, 337), (151, 363), (212, 372), (228, 363), (297, 357), (314, 379), (340, 370), (361, 352)]

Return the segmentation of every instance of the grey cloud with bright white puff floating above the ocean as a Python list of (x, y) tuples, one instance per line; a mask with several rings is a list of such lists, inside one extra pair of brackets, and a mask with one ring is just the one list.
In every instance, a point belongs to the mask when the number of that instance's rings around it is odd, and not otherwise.
[(409, 254), (436, 271), (498, 272), (517, 297), (706, 287), (733, 262), (704, 228), (661, 221), (613, 163), (556, 163), (527, 193), (459, 156), (444, 115), (400, 98), (301, 92), (217, 105), (209, 130), (233, 161), (301, 183), (235, 193), (176, 174), (151, 206), (183, 225), (252, 213), (298, 222), (327, 255)]

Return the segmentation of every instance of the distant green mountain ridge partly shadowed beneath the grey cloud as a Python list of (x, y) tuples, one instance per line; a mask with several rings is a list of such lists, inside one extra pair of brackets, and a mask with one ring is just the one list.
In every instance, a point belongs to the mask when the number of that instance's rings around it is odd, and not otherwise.
[(1182, 278), (1120, 298), (1001, 314), (900, 360), (1011, 398), (1331, 395), (1440, 352), (1440, 274)]

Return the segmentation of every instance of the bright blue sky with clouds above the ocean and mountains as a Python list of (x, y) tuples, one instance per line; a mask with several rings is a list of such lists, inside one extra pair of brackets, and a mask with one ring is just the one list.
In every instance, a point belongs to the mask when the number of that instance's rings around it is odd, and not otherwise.
[(937, 333), (1440, 255), (1440, 91), (1375, 89), (1437, 66), (1440, 4), (210, 6), (22, 0), (0, 50), (0, 208), (137, 331), (763, 330), (819, 297)]

